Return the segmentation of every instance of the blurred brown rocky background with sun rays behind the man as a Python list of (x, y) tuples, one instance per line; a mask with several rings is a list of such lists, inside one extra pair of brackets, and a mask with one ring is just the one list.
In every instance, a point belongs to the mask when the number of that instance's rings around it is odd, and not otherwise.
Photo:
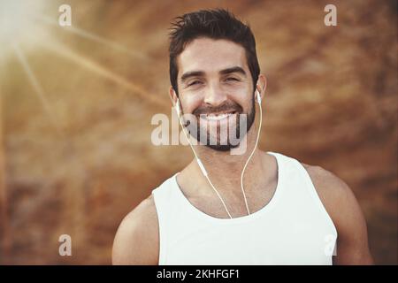
[[(57, 25), (65, 3), (72, 27)], [(325, 4), (336, 5), (337, 27), (325, 27)], [(256, 35), (268, 77), (260, 147), (345, 180), (376, 263), (397, 264), (396, 1), (34, 6), (15, 42), (0, 45), (0, 264), (111, 264), (120, 220), (192, 158), (150, 142), (152, 116), (172, 111), (169, 23), (214, 7)], [(58, 255), (63, 233), (73, 256)]]

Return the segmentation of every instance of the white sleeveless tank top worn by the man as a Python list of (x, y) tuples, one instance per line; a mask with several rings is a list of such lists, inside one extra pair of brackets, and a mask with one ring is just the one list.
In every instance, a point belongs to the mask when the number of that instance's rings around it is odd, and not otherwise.
[(279, 153), (278, 185), (262, 209), (214, 218), (182, 193), (176, 176), (152, 191), (158, 264), (332, 264), (337, 231), (306, 169)]

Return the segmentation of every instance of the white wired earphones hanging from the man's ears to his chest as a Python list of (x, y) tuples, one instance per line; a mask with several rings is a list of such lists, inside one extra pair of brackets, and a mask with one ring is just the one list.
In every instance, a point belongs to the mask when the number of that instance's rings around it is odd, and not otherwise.
[[(255, 147), (253, 148), (252, 152), (250, 153), (250, 156), (249, 156), (248, 160), (246, 161), (246, 164), (243, 166), (243, 170), (241, 171), (241, 192), (242, 192), (243, 198), (245, 200), (245, 205), (246, 205), (246, 210), (248, 210), (248, 215), (250, 214), (250, 210), (249, 210), (249, 205), (248, 205), (248, 200), (246, 198), (245, 190), (243, 188), (243, 175), (244, 175), (244, 172), (246, 171), (246, 167), (248, 166), (251, 157), (253, 157), (253, 154), (254, 154), (254, 152), (255, 152), (255, 150), (257, 148), (258, 140), (259, 140), (259, 137), (260, 137), (261, 126), (262, 126), (262, 123), (263, 123), (263, 109), (261, 107), (261, 96), (260, 96), (260, 93), (259, 93), (258, 89), (256, 89), (256, 100), (257, 100), (256, 102), (258, 103), (258, 106), (260, 108), (260, 123), (259, 123), (258, 131), (257, 131), (256, 144), (255, 144)], [(218, 198), (220, 199), (221, 203), (223, 203), (224, 208), (226, 209), (226, 213), (228, 214), (229, 218), (233, 218), (231, 216), (231, 213), (229, 212), (229, 210), (226, 208), (226, 203), (224, 202), (223, 198), (221, 197), (221, 195), (219, 195), (218, 190), (212, 184), (212, 182), (211, 182), (211, 180), (209, 178), (208, 172), (204, 168), (204, 165), (203, 165), (201, 159), (197, 156), (196, 151), (194, 149), (194, 146), (190, 142), (190, 140), (188, 138), (188, 134), (185, 131), (185, 127), (182, 125), (182, 122), (181, 122), (181, 119), (180, 119), (180, 116), (181, 116), (180, 115), (181, 114), (181, 105), (180, 105), (180, 99), (179, 98), (177, 98), (177, 102), (175, 103), (174, 108), (175, 108), (175, 111), (177, 112), (178, 119), (179, 119), (180, 125), (182, 127), (182, 131), (184, 132), (184, 134), (185, 134), (185, 136), (186, 136), (186, 138), (188, 140), (188, 143), (189, 143), (192, 151), (194, 152), (196, 162), (199, 165), (199, 168), (201, 169), (201, 171), (203, 173), (203, 176), (208, 180), (208, 182), (210, 184), (210, 187), (213, 188), (214, 192), (218, 195)]]

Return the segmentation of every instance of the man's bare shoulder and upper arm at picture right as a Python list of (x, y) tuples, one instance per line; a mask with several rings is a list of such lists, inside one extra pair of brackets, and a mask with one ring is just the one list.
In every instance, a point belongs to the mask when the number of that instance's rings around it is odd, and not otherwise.
[(337, 255), (333, 256), (333, 264), (373, 264), (364, 215), (351, 189), (332, 172), (303, 165), (337, 229)]

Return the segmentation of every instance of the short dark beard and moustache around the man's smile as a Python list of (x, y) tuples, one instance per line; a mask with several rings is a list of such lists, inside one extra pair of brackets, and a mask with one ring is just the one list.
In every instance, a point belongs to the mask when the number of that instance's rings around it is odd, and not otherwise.
[[(221, 126), (218, 122), (213, 123), (212, 130), (214, 131), (211, 131), (211, 126), (208, 125), (210, 123), (208, 123), (206, 119), (203, 119), (206, 115), (211, 113), (233, 113), (235, 119), (227, 118), (227, 128), (223, 133), (221, 133)], [(192, 114), (196, 118), (196, 125), (194, 127), (196, 133), (189, 133), (195, 140), (210, 149), (228, 151), (239, 146), (241, 140), (253, 125), (256, 116), (255, 100), (254, 98), (252, 99), (251, 109), (248, 114), (243, 113), (241, 105), (232, 101), (227, 101), (217, 107), (199, 106)], [(241, 125), (241, 123), (245, 123), (246, 125)], [(234, 141), (231, 139), (232, 134), (234, 134)]]

